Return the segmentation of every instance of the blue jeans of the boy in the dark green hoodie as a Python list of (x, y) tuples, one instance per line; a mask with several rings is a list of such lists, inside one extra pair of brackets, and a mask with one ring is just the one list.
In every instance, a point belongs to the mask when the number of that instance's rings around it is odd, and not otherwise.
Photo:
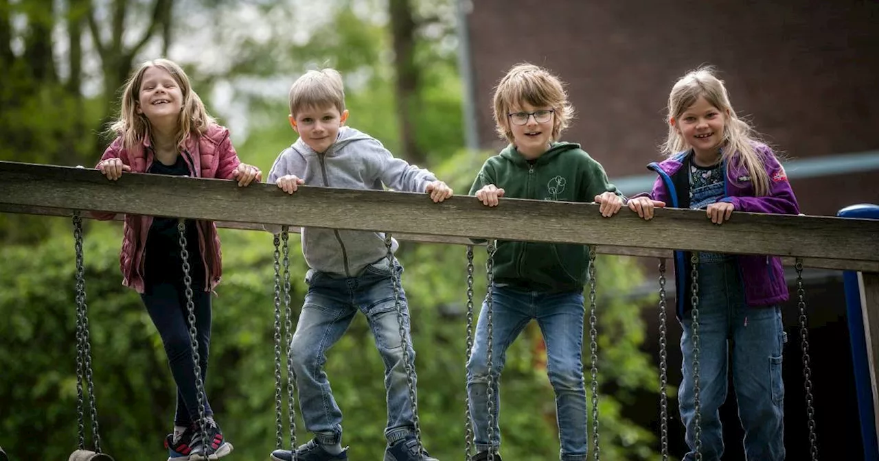
[[(500, 446), (499, 378), (506, 349), (532, 319), (547, 346), (549, 382), (556, 392), (556, 421), (564, 461), (586, 459), (586, 390), (583, 378), (582, 292), (522, 292), (495, 286), (492, 314), (491, 367), (488, 364), (488, 306), (483, 302), (473, 353), (467, 363), (467, 393), (475, 429), (476, 450)], [(491, 374), (489, 374), (491, 373)], [(489, 441), (488, 386), (493, 377), (494, 437)]]

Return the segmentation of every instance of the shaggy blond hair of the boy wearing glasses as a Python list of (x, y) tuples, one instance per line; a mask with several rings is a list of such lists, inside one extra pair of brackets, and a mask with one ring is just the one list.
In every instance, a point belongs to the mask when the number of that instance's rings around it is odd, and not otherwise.
[(574, 107), (568, 102), (562, 81), (547, 69), (534, 64), (513, 66), (500, 80), (494, 94), (494, 116), (498, 135), (512, 143), (510, 112), (522, 103), (535, 107), (551, 107), (554, 111), (552, 140), (558, 140), (574, 117)]

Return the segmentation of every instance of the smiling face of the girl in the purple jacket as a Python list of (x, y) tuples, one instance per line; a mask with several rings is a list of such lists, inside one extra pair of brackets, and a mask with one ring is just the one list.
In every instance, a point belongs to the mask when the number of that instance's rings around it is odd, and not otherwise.
[(710, 161), (719, 155), (726, 114), (705, 97), (697, 98), (679, 117), (669, 122), (693, 148), (696, 158)]

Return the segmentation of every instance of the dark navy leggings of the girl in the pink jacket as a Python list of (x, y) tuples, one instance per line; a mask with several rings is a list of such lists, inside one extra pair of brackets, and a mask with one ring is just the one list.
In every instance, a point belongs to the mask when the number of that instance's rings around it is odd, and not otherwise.
[[(182, 284), (181, 284), (182, 285)], [(207, 354), (211, 342), (211, 293), (198, 288), (193, 289), (196, 336), (199, 342), (199, 364), (201, 380), (207, 376)], [(186, 310), (186, 294), (183, 286), (171, 283), (150, 284), (141, 295), (149, 317), (162, 336), (171, 375), (177, 383), (177, 410), (174, 414), (176, 426), (189, 426), (199, 420), (198, 391), (195, 387), (195, 367), (193, 365), (193, 346), (189, 339), (189, 321)], [(214, 412), (204, 397), (205, 415)]]

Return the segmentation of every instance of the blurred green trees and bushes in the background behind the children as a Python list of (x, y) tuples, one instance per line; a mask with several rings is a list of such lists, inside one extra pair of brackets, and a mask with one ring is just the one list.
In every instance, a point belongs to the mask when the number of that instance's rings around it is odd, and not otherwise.
[[(289, 84), (305, 68), (330, 65), (345, 76), (352, 126), (394, 153), (417, 151), (410, 160), (425, 162), (458, 194), (466, 193), (487, 154), (460, 150), (461, 83), (451, 1), (336, 0), (321, 11), (305, 4), (310, 3), (0, 0), (0, 160), (91, 165), (105, 142), (98, 138), (101, 124), (118, 110), (114, 101), (131, 66), (171, 54), (221, 120), (234, 121), (236, 114), (220, 111), (214, 98), (222, 100), (217, 95), (223, 89), (232, 93), (227, 110), (242, 107), (247, 128), (246, 135), (237, 135), (236, 149), (244, 162), (267, 171), (295, 139), (287, 125)], [(405, 65), (414, 66), (418, 84), (403, 95), (416, 101), (410, 112), (401, 112), (399, 104), (392, 7), (408, 7), (415, 24)], [(181, 16), (187, 20), (175, 19)], [(48, 31), (66, 34), (69, 47), (53, 46)], [(183, 52), (178, 53), (192, 59), (175, 57), (175, 49), (198, 45), (186, 41), (196, 38), (203, 40), (201, 54), (222, 59)], [(260, 90), (265, 88), (278, 90)], [(409, 128), (401, 123), (405, 113)], [(407, 129), (409, 138), (402, 133)], [(175, 394), (161, 340), (139, 297), (120, 285), (120, 226), (90, 222), (87, 231), (87, 302), (102, 445), (117, 459), (163, 456)], [(76, 447), (71, 234), (67, 220), (0, 214), (0, 445), (18, 459), (63, 458)], [(246, 231), (221, 236), (225, 276), (214, 298), (207, 391), (236, 446), (233, 456), (265, 459), (275, 448), (272, 236)], [(295, 314), (306, 267), (298, 239), (291, 241)], [(404, 242), (398, 255), (418, 353), (425, 445), (435, 457), (461, 457), (465, 249)], [(476, 313), (485, 292), (484, 263), (483, 249), (476, 248)], [(647, 459), (655, 436), (626, 420), (622, 409), (634, 394), (653, 392), (657, 372), (641, 349), (641, 303), (614, 296), (638, 285), (641, 276), (628, 259), (599, 257), (598, 267), (603, 457)], [(531, 325), (508, 353), (501, 428), (504, 454), (511, 459), (557, 457), (554, 397), (541, 347), (541, 335)], [(327, 373), (345, 414), (352, 455), (380, 458), (383, 364), (362, 316), (331, 350)], [(297, 428), (302, 443), (307, 434), (301, 420)]]

